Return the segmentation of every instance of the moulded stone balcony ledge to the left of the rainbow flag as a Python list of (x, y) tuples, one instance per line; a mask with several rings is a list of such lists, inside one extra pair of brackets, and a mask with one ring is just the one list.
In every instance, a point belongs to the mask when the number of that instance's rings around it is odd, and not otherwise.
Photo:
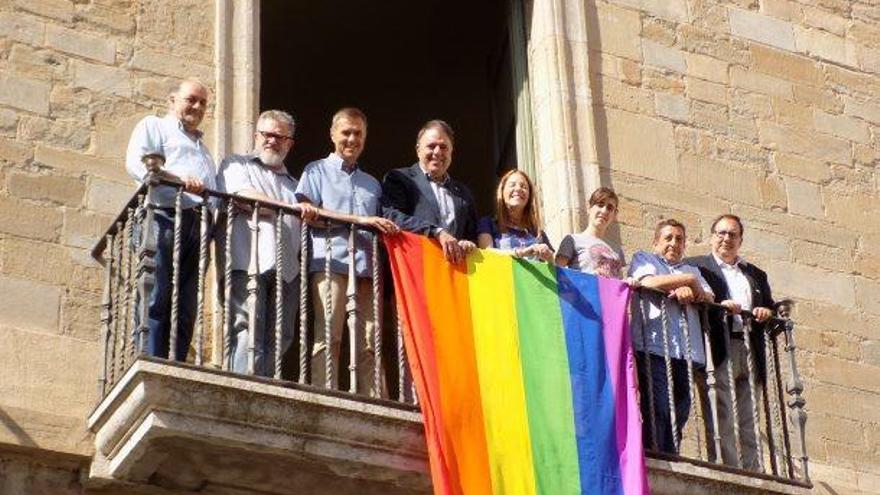
[(273, 380), (140, 359), (88, 421), (93, 488), (428, 493), (421, 416)]

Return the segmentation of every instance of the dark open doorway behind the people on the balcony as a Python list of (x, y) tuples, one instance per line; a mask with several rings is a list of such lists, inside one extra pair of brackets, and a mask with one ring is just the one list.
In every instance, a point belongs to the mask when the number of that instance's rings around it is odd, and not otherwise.
[(331, 151), (343, 106), (369, 119), (361, 162), (380, 179), (416, 161), (416, 133), (441, 118), (456, 131), (451, 173), (478, 213), (491, 213), (497, 174), (515, 167), (507, 0), (261, 2), (262, 109), (297, 119), (288, 167)]

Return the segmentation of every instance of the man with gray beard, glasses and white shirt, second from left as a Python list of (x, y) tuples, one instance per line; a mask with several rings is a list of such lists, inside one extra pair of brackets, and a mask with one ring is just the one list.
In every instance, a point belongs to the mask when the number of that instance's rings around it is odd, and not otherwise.
[[(297, 180), (284, 167), (284, 158), (293, 147), (296, 124), (293, 117), (280, 110), (268, 110), (257, 119), (254, 150), (244, 155), (230, 155), (220, 164), (220, 189), (249, 199), (274, 203), (297, 203), (294, 192)], [(313, 218), (315, 209), (298, 204), (303, 217)], [(248, 364), (249, 306), (247, 301), (248, 267), (251, 259), (253, 209), (247, 202), (237, 203), (238, 213), (232, 225), (232, 293), (229, 307), (232, 335), (228, 363), (230, 369), (244, 373)], [(254, 331), (254, 374), (272, 376), (275, 369), (276, 277), (282, 277), (283, 321), (281, 355), (290, 347), (299, 307), (300, 219), (285, 215), (282, 232), (275, 231), (276, 214), (266, 209), (259, 215), (257, 239), (257, 301)], [(282, 273), (275, 266), (276, 234), (284, 263)]]

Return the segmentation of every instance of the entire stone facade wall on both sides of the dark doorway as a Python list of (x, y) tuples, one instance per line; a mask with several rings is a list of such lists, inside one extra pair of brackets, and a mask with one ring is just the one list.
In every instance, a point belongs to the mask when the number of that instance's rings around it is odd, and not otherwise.
[[(88, 250), (133, 190), (134, 123), (164, 110), (179, 77), (213, 85), (213, 3), (0, 0), (0, 444), (91, 453), (101, 281)], [(629, 252), (668, 216), (705, 252), (711, 218), (740, 214), (749, 258), (798, 302), (817, 491), (877, 492), (880, 6), (533, 3), (545, 9), (530, 25), (537, 154), (555, 181), (544, 198), (565, 201), (548, 211), (554, 238), (583, 225), (596, 181), (624, 198)], [(29, 483), (79, 476), (68, 461), (38, 468), (48, 457), (2, 462)]]

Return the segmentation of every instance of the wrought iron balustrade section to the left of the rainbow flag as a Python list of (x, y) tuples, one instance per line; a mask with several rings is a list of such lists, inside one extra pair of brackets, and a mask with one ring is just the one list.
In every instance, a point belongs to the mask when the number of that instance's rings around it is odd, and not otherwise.
[[(148, 204), (146, 198), (150, 195), (150, 189), (155, 187), (174, 187), (176, 188), (176, 201), (174, 207), (174, 248), (172, 260), (172, 281), (171, 281), (171, 310), (170, 310), (170, 332), (168, 336), (167, 356), (175, 359), (174, 350), (178, 347), (178, 339), (181, 335), (181, 318), (179, 302), (181, 299), (182, 287), (180, 282), (182, 250), (182, 197), (184, 191), (182, 185), (174, 180), (160, 178), (158, 176), (148, 180), (146, 184), (138, 189), (131, 198), (129, 203), (123, 208), (117, 219), (107, 229), (103, 238), (96, 244), (92, 250), (92, 256), (101, 262), (104, 267), (104, 293), (101, 301), (101, 328), (103, 340), (103, 358), (101, 375), (98, 381), (99, 395), (104, 397), (114, 383), (120, 379), (125, 370), (132, 362), (147, 349), (147, 340), (149, 338), (149, 328), (147, 321), (149, 318), (147, 304), (141, 304), (140, 301), (146, 301), (150, 297), (156, 280), (156, 255), (157, 255), (157, 239), (155, 216), (157, 209)], [(336, 214), (319, 210), (319, 219), (311, 224), (302, 224), (301, 235), (298, 242), (302, 247), (298, 259), (295, 253), (289, 252), (289, 243), (283, 242), (283, 235), (275, 235), (275, 273), (280, 274), (284, 271), (288, 263), (297, 263), (300, 267), (302, 276), (298, 277), (299, 281), (299, 301), (294, 311), (298, 312), (298, 324), (296, 325), (296, 356), (284, 356), (281, 345), (275, 343), (282, 342), (283, 333), (287, 330), (283, 328), (284, 312), (290, 311), (291, 308), (283, 303), (284, 301), (284, 283), (283, 277), (275, 276), (275, 286), (272, 288), (275, 292), (275, 300), (270, 301), (274, 304), (276, 317), (274, 328), (266, 329), (266, 331), (274, 332), (274, 336), (269, 338), (268, 349), (262, 349), (267, 356), (267, 361), (271, 362), (271, 369), (259, 369), (257, 361), (261, 351), (260, 343), (256, 341), (259, 338), (253, 331), (257, 325), (257, 299), (258, 291), (268, 290), (268, 288), (260, 287), (257, 282), (259, 275), (258, 256), (260, 242), (260, 229), (265, 225), (267, 218), (272, 219), (276, 232), (284, 230), (284, 220), (288, 216), (300, 216), (300, 211), (296, 207), (275, 203), (271, 201), (257, 201), (241, 196), (225, 194), (221, 192), (206, 190), (203, 194), (203, 201), (194, 207), (195, 213), (199, 219), (199, 242), (198, 242), (198, 281), (196, 291), (196, 316), (192, 329), (192, 343), (187, 353), (187, 361), (196, 366), (210, 366), (221, 368), (224, 370), (232, 370), (231, 351), (234, 347), (232, 339), (234, 337), (233, 330), (233, 308), (231, 308), (232, 285), (233, 285), (233, 256), (236, 253), (232, 250), (232, 242), (226, 242), (233, 236), (233, 225), (235, 219), (239, 216), (245, 216), (249, 222), (250, 245), (253, 249), (249, 250), (250, 258), (247, 260), (247, 309), (249, 314), (248, 342), (247, 342), (247, 366), (245, 373), (250, 375), (264, 375), (275, 379), (287, 379), (302, 385), (312, 385), (318, 388), (330, 388), (334, 381), (347, 383), (346, 391), (351, 394), (367, 395), (371, 397), (387, 397), (387, 391), (392, 392), (392, 399), (405, 403), (414, 403), (414, 389), (411, 381), (407, 379), (406, 356), (403, 351), (402, 339), (400, 338), (400, 328), (397, 325), (396, 316), (393, 314), (393, 304), (385, 304), (383, 295), (383, 274), (382, 263), (379, 259), (379, 236), (374, 235), (368, 228), (361, 227), (352, 223), (353, 217)], [(263, 219), (263, 222), (260, 220)], [(334, 232), (339, 229), (347, 231), (347, 256), (348, 259), (354, 259), (358, 243), (355, 242), (357, 235), (365, 235), (370, 239), (369, 249), (366, 249), (370, 267), (370, 284), (372, 286), (372, 313), (378, 315), (374, 318), (374, 331), (372, 335), (372, 370), (369, 384), (358, 384), (358, 369), (361, 364), (358, 362), (358, 353), (356, 349), (358, 343), (355, 342), (356, 332), (348, 331), (347, 347), (348, 354), (342, 356), (341, 361), (347, 361), (347, 367), (341, 367), (335, 362), (332, 352), (324, 352), (326, 359), (322, 366), (321, 375), (323, 375), (322, 383), (313, 383), (310, 363), (314, 360), (310, 356), (315, 340), (330, 342), (331, 340), (331, 290), (329, 284), (325, 284), (325, 293), (323, 299), (327, 302), (325, 307), (326, 324), (323, 328), (313, 328), (311, 325), (313, 318), (310, 314), (310, 294), (308, 273), (309, 260), (311, 257), (312, 243), (309, 242), (309, 233), (311, 231), (321, 231), (335, 228)], [(239, 235), (239, 233), (236, 233)], [(325, 248), (329, 249), (326, 243), (330, 242), (329, 236), (314, 236), (315, 243), (325, 242)], [(213, 263), (211, 253), (213, 252)], [(331, 273), (331, 257), (325, 256), (324, 274), (327, 278)], [(208, 283), (209, 268), (216, 267), (214, 271), (214, 284)], [(357, 287), (355, 263), (348, 263), (348, 277), (345, 292), (345, 320), (349, 329), (354, 329), (359, 324), (358, 308), (357, 308)], [(216, 290), (211, 290), (213, 285)], [(209, 302), (214, 304), (210, 305)], [(212, 306), (212, 307), (209, 307)], [(384, 312), (385, 306), (388, 311)], [(385, 318), (381, 315), (387, 313)], [(213, 325), (210, 324), (213, 321)], [(390, 323), (388, 323), (390, 322)], [(390, 327), (394, 332), (391, 335), (385, 335)], [(391, 345), (389, 346), (389, 341)], [(392, 349), (390, 356), (383, 353), (383, 348)], [(290, 366), (285, 366), (287, 361), (295, 360)], [(316, 365), (313, 365), (316, 366)], [(385, 370), (393, 366), (393, 372), (386, 373)], [(285, 370), (293, 369), (285, 373)], [(334, 375), (339, 373), (337, 380)], [(386, 384), (386, 379), (394, 379), (395, 383)]]

